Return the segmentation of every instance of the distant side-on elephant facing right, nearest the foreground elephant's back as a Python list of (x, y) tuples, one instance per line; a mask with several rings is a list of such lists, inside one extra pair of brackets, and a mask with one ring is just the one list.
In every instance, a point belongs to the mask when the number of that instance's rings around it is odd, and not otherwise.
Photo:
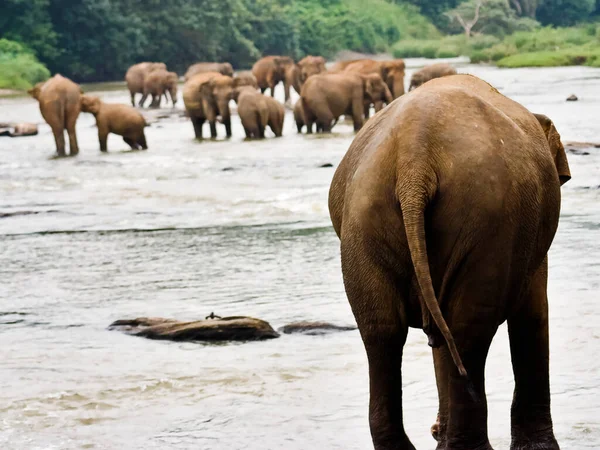
[(380, 77), (371, 75), (345, 72), (313, 75), (302, 86), (300, 95), (306, 132), (312, 133), (315, 122), (318, 130), (330, 132), (333, 122), (342, 114), (352, 116), (354, 130), (360, 130), (365, 105), (385, 96), (382, 94), (385, 87)]

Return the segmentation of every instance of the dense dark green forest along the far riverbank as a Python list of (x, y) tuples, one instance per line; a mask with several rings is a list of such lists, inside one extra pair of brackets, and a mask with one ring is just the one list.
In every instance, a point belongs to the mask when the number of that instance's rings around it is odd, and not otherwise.
[(243, 69), (267, 54), (382, 52), (463, 33), (453, 13), (467, 17), (477, 2), (486, 6), (473, 33), (497, 38), (600, 12), (600, 0), (3, 0), (0, 38), (17, 43), (19, 56), (0, 47), (0, 63), (13, 61), (16, 72), (31, 65), (31, 84), (40, 63), (76, 81), (103, 81), (122, 79), (139, 61), (182, 73), (197, 61)]

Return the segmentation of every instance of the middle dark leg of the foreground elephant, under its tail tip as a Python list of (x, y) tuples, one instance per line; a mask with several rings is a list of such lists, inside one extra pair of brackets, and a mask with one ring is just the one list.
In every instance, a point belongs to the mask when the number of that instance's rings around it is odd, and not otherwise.
[[(505, 242), (498, 239), (498, 242)], [(487, 248), (493, 255), (502, 249)], [(440, 409), (441, 428), (446, 429), (444, 450), (491, 450), (488, 439), (488, 410), (485, 395), (485, 363), (492, 339), (504, 311), (503, 292), (509, 264), (494, 263), (473, 250), (460, 272), (453, 276), (452, 288), (440, 301), (447, 305), (448, 327), (468, 373), (461, 376), (445, 345), (434, 351), (438, 392), (447, 392), (448, 414)], [(440, 383), (442, 385), (440, 386)], [(447, 383), (447, 387), (443, 385)], [(441, 437), (442, 441), (444, 437)]]

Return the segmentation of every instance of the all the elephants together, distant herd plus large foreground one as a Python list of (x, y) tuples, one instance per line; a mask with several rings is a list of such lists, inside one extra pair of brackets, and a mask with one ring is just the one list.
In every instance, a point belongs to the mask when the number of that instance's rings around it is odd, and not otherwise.
[[(200, 63), (185, 75), (183, 100), (196, 137), (217, 119), (231, 136), (235, 100), (247, 137), (269, 126), (281, 135), (284, 109), (273, 95), (283, 82), (300, 94), (298, 129), (330, 131), (349, 115), (358, 131), (329, 191), (341, 241), (344, 287), (369, 364), (369, 423), (376, 450), (414, 450), (403, 424), (402, 349), (410, 327), (433, 347), (438, 450), (491, 450), (485, 362), (498, 327), (508, 322), (515, 391), (511, 450), (559, 450), (550, 411), (548, 250), (570, 178), (552, 121), (533, 114), (471, 75), (434, 65), (412, 77), (404, 62), (268, 56), (251, 72)], [(141, 63), (126, 77), (134, 104), (177, 99), (177, 76)], [(259, 91), (260, 89), (260, 91)], [(77, 153), (80, 111), (96, 116), (101, 150), (109, 132), (147, 148), (134, 106), (103, 103), (56, 75), (31, 95), (52, 127), (59, 155), (66, 128)], [(397, 99), (397, 100), (394, 100)], [(368, 118), (371, 105), (381, 113)], [(300, 106), (298, 106), (300, 105)]]

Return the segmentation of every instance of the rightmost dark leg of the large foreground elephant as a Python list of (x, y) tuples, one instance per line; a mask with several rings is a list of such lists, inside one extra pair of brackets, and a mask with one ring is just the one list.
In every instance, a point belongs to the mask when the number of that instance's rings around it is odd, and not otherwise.
[(558, 450), (550, 413), (548, 263), (534, 275), (521, 310), (508, 319), (515, 376), (511, 450)]

